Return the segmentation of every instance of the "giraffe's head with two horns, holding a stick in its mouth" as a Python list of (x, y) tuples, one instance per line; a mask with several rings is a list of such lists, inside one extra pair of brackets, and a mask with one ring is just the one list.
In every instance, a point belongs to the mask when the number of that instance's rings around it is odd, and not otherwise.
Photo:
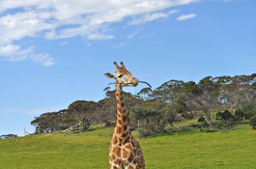
[(116, 86), (137, 86), (139, 83), (138, 79), (131, 75), (125, 68), (125, 64), (121, 62), (121, 67), (114, 62), (117, 71), (114, 74), (105, 73), (104, 75), (110, 79), (115, 79)]

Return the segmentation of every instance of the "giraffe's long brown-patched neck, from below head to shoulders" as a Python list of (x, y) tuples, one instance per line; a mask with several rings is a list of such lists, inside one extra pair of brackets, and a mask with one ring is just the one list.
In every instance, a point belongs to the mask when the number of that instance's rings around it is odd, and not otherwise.
[(120, 137), (126, 137), (128, 135), (127, 130), (127, 117), (125, 109), (125, 101), (123, 100), (122, 87), (116, 86), (116, 98), (117, 98), (117, 126), (116, 134)]

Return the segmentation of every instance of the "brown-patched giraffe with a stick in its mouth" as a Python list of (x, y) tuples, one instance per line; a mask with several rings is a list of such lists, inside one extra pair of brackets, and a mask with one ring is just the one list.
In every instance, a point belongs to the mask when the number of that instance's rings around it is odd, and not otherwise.
[(115, 79), (117, 99), (117, 124), (114, 129), (113, 138), (109, 146), (110, 168), (145, 168), (144, 156), (139, 142), (131, 134), (127, 126), (125, 102), (123, 100), (122, 87), (137, 86), (138, 79), (133, 77), (121, 62), (121, 67), (114, 62), (117, 71), (114, 74), (105, 73), (110, 79)]

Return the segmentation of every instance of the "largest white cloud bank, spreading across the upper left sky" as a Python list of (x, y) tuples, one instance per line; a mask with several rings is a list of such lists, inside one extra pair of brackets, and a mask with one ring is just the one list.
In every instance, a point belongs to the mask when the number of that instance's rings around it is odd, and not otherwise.
[[(161, 12), (165, 8), (191, 2), (197, 1), (2, 0), (0, 1), (0, 57), (9, 61), (33, 58), (45, 66), (53, 65), (53, 57), (49, 57), (49, 54), (34, 54), (35, 47), (23, 47), (19, 40), (27, 36), (46, 40), (75, 36), (93, 41), (113, 39), (116, 36), (109, 28), (112, 23), (123, 21), (125, 17), (130, 20), (128, 25), (165, 19), (170, 14), (178, 12), (178, 10)], [(152, 10), (148, 11), (149, 9)], [(131, 34), (127, 38), (133, 38), (134, 35)], [(61, 43), (61, 45), (65, 44)]]

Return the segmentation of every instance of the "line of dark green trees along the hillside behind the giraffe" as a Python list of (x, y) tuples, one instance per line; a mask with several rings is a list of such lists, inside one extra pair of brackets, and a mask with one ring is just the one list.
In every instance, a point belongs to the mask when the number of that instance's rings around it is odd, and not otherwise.
[[(85, 131), (95, 123), (116, 124), (115, 91), (104, 89), (105, 98), (98, 102), (78, 100), (67, 109), (41, 114), (31, 122), (36, 133), (74, 128)], [(143, 88), (137, 94), (123, 92), (130, 128), (138, 121), (144, 135), (157, 135), (179, 117), (193, 118), (201, 113), (198, 122), (204, 127), (232, 126), (249, 119), (256, 126), (256, 74), (205, 77), (198, 83), (170, 80), (155, 90)], [(213, 124), (212, 118), (219, 123)], [(205, 120), (206, 119), (206, 120)]]

